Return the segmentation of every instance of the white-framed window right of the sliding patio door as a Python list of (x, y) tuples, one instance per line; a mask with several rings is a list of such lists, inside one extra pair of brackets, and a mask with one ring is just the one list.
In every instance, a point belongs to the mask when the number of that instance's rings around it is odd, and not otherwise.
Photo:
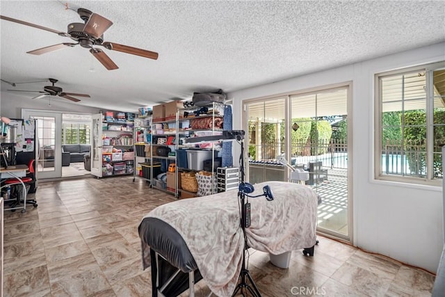
[(445, 145), (445, 63), (376, 74), (375, 86), (375, 177), (439, 185)]

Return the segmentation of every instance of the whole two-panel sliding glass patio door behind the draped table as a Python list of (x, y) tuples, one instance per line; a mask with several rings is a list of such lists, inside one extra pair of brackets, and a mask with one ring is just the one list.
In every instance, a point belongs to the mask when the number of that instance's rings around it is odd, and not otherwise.
[(252, 99), (243, 103), (248, 180), (289, 181), (280, 163), (309, 172), (303, 182), (321, 196), (318, 231), (350, 241), (352, 152), (348, 135), (350, 85)]

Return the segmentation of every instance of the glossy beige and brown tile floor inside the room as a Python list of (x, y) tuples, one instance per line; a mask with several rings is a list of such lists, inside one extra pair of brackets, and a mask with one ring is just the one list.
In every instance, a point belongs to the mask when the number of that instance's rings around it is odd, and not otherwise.
[[(138, 224), (174, 201), (132, 177), (40, 183), (39, 206), (5, 212), (4, 296), (151, 296)], [(314, 257), (294, 251), (289, 269), (250, 252), (263, 296), (430, 296), (435, 276), (318, 236)], [(209, 292), (198, 282), (197, 296)], [(182, 294), (187, 296), (187, 294)]]

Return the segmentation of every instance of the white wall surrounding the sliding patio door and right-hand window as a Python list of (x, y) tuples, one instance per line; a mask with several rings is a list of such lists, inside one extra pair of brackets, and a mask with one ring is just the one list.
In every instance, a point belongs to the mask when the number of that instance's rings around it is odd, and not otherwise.
[(244, 99), (353, 81), (353, 243), (435, 272), (443, 246), (442, 188), (373, 179), (373, 79), (377, 72), (443, 60), (444, 42), (229, 93), (234, 129), (243, 129)]

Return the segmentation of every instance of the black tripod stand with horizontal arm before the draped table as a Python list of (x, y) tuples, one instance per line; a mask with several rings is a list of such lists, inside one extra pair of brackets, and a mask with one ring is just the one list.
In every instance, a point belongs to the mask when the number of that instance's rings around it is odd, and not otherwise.
[(184, 143), (200, 143), (200, 142), (209, 143), (213, 141), (234, 141), (234, 140), (240, 143), (241, 155), (239, 163), (241, 172), (241, 183), (238, 188), (238, 199), (241, 201), (240, 223), (241, 223), (241, 230), (243, 230), (243, 236), (244, 236), (244, 248), (243, 248), (243, 262), (242, 262), (241, 272), (238, 278), (238, 284), (236, 285), (232, 296), (235, 296), (238, 293), (238, 291), (241, 291), (241, 295), (247, 296), (248, 295), (247, 291), (248, 291), (254, 297), (261, 297), (257, 285), (255, 284), (252, 275), (250, 275), (250, 272), (245, 262), (245, 253), (248, 252), (249, 248), (248, 237), (245, 234), (245, 228), (250, 226), (250, 203), (248, 202), (247, 198), (249, 197), (257, 198), (265, 196), (266, 200), (271, 201), (273, 200), (273, 193), (270, 190), (269, 186), (264, 186), (263, 194), (254, 196), (249, 195), (250, 193), (253, 193), (254, 187), (252, 186), (252, 184), (244, 182), (244, 158), (243, 158), (244, 135), (245, 132), (243, 130), (229, 130), (229, 131), (223, 131), (223, 135), (187, 138), (184, 140)]

